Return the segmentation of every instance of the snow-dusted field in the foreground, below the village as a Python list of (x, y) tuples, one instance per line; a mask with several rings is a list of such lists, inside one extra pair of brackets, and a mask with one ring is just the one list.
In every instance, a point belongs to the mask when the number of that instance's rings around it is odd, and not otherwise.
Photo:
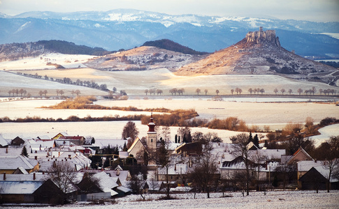
[[(116, 199), (116, 204), (106, 203), (105, 205), (88, 205), (85, 202), (75, 203), (67, 206), (45, 207), (45, 208), (339, 208), (339, 192), (319, 191), (281, 191), (268, 192), (250, 192), (250, 196), (242, 196), (240, 192), (225, 193), (230, 197), (222, 197), (222, 193), (212, 193), (211, 198), (207, 199), (206, 194), (172, 194), (178, 198), (174, 200), (156, 201), (164, 194), (146, 194), (146, 199), (150, 201), (140, 201), (140, 195), (130, 195), (124, 198)], [(9, 207), (4, 207), (9, 208)], [(19, 208), (19, 207), (10, 207)], [(44, 207), (36, 207), (44, 208)]]

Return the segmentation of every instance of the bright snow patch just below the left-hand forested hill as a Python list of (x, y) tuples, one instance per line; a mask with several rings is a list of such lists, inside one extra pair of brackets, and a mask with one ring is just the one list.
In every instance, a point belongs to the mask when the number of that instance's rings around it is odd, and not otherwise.
[(55, 69), (54, 65), (47, 63), (57, 63), (64, 68), (85, 68), (82, 63), (94, 56), (85, 54), (43, 54), (34, 58), (19, 59), (17, 61), (0, 62), (0, 69), (3, 70), (42, 70)]

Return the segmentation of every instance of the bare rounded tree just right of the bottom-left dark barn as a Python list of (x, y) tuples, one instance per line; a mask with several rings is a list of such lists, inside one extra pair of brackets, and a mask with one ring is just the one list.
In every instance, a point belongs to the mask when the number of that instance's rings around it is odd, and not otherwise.
[(52, 167), (48, 169), (49, 178), (65, 194), (72, 192), (73, 181), (76, 178), (75, 166), (71, 162), (53, 162)]

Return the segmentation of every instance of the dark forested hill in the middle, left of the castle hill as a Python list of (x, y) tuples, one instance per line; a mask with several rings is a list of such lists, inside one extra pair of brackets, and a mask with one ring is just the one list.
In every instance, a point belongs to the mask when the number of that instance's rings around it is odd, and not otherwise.
[(177, 42), (173, 42), (172, 40), (168, 39), (161, 39), (161, 40), (154, 40), (154, 41), (147, 41), (143, 44), (143, 47), (158, 47), (161, 49), (170, 50), (173, 52), (180, 52), (183, 54), (208, 54), (207, 52), (197, 52), (189, 47), (182, 46)]

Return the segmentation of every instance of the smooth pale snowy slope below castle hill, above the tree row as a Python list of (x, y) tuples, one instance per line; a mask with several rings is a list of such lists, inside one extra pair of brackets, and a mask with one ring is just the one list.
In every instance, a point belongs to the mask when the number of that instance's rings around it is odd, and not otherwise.
[[(0, 68), (1, 69), (1, 68)], [(27, 73), (48, 75), (48, 77), (64, 78), (72, 80), (92, 80), (99, 84), (107, 84), (108, 89), (116, 87), (118, 90), (125, 90), (129, 95), (145, 96), (145, 89), (158, 88), (164, 91), (164, 95), (171, 95), (168, 91), (171, 88), (185, 88), (185, 95), (196, 95), (196, 88), (201, 89), (201, 94), (208, 89), (208, 95), (231, 95), (231, 89), (242, 88), (242, 94), (248, 94), (249, 88), (264, 88), (264, 94), (273, 94), (274, 88), (284, 88), (286, 92), (292, 89), (292, 94), (298, 94), (297, 89), (303, 91), (315, 86), (319, 88), (339, 88), (319, 82), (305, 82), (301, 80), (287, 79), (277, 75), (203, 75), (195, 77), (177, 76), (166, 68), (145, 71), (103, 71), (92, 68), (66, 69), (66, 70), (27, 70)], [(0, 84), (1, 86), (1, 84)], [(278, 93), (280, 94), (280, 92)], [(286, 95), (287, 93), (285, 93)], [(311, 97), (312, 99), (312, 97)]]

